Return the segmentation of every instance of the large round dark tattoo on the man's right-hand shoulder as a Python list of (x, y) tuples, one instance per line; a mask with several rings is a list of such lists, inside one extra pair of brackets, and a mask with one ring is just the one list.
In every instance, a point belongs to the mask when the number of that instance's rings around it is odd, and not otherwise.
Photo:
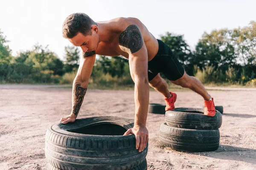
[(143, 45), (143, 37), (136, 25), (128, 26), (119, 36), (121, 46), (128, 48), (132, 53), (140, 50)]

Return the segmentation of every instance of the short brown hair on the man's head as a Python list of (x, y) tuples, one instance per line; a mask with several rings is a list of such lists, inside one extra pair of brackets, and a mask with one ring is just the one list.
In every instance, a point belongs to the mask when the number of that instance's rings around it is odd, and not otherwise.
[(86, 35), (91, 35), (92, 25), (97, 25), (87, 14), (74, 13), (70, 14), (64, 21), (62, 26), (62, 36), (64, 38), (73, 38), (79, 32)]

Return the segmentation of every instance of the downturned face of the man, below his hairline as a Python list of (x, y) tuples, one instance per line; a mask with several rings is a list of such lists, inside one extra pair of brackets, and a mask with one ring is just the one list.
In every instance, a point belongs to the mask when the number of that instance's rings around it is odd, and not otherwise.
[(99, 45), (98, 29), (93, 30), (92, 34), (84, 36), (79, 32), (75, 37), (68, 39), (73, 45), (81, 47), (83, 52), (96, 51)]

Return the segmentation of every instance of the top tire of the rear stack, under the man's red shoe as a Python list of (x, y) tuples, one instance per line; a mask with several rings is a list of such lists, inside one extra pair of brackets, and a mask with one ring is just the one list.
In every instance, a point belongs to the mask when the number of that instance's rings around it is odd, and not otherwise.
[(221, 127), (222, 116), (216, 111), (215, 116), (205, 116), (203, 108), (175, 108), (166, 111), (166, 124), (185, 129), (215, 130)]

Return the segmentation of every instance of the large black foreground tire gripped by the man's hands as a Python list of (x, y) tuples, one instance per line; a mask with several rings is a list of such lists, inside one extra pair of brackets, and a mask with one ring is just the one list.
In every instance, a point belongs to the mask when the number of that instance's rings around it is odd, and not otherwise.
[(133, 119), (115, 116), (52, 125), (45, 136), (46, 159), (61, 170), (134, 168), (145, 160), (148, 144), (139, 152), (134, 135), (122, 136), (133, 125)]

